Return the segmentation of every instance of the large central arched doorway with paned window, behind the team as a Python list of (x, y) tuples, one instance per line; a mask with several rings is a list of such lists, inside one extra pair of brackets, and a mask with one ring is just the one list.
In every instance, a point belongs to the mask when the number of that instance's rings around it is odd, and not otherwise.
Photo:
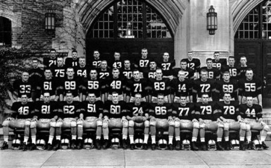
[(133, 61), (142, 48), (158, 60), (164, 52), (173, 58), (173, 33), (164, 18), (150, 4), (140, 0), (114, 1), (102, 11), (86, 35), (87, 60), (98, 49), (107, 60), (114, 51)]

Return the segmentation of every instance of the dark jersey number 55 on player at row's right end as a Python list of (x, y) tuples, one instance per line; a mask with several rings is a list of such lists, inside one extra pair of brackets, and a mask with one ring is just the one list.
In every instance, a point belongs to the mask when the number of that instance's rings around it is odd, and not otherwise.
[(238, 82), (238, 95), (257, 97), (262, 93), (262, 82), (260, 79), (253, 78), (251, 81), (247, 79), (240, 79)]

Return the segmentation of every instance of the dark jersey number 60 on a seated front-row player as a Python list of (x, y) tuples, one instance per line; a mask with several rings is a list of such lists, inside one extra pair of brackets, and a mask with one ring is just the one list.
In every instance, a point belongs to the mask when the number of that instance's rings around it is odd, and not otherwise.
[(119, 101), (117, 104), (114, 104), (112, 101), (105, 101), (104, 116), (108, 118), (122, 118), (122, 116), (127, 116), (126, 103)]

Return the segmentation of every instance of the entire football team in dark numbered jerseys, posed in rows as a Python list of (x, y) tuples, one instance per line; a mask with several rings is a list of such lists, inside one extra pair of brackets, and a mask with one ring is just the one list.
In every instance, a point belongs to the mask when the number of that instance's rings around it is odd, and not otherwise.
[[(2, 124), (2, 150), (9, 148), (10, 129), (24, 131), (19, 142), (23, 150), (37, 149), (36, 143), (41, 141), (36, 135), (42, 130), (48, 132), (42, 133), (48, 134), (44, 144), (48, 150), (60, 149), (67, 130), (71, 149), (86, 144), (107, 149), (110, 143), (119, 143), (117, 138), (111, 140), (113, 130), (120, 131), (123, 149), (129, 146), (131, 150), (138, 144), (145, 150), (165, 144), (169, 150), (187, 144), (192, 150), (207, 150), (208, 143), (214, 143), (205, 142), (207, 132), (216, 133), (218, 150), (231, 149), (230, 132), (238, 134), (240, 150), (255, 145), (268, 148), (264, 141), (270, 128), (262, 118), (262, 82), (245, 56), (236, 66), (235, 57), (222, 59), (214, 52), (214, 58), (207, 58), (207, 66), (201, 67), (200, 60), (188, 52), (188, 58), (175, 67), (168, 52), (154, 60), (145, 48), (134, 60), (122, 59), (120, 52), (105, 60), (95, 50), (88, 64), (75, 50), (65, 61), (56, 54), (55, 49), (50, 50), (50, 57), (43, 59), (43, 70), (34, 58), (33, 68), (23, 71), (8, 89), (14, 103), (13, 113)], [(95, 131), (93, 141), (83, 140), (89, 130)], [(134, 140), (138, 130), (144, 138)], [(156, 135), (163, 131), (168, 132), (164, 135), (168, 142), (160, 139), (157, 145)], [(251, 131), (260, 132), (257, 143)], [(185, 139), (182, 132), (192, 136)]]

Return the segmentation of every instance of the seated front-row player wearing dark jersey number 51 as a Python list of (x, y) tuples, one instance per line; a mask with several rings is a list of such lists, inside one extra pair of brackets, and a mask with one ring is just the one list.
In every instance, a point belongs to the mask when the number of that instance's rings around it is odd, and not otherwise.
[[(82, 140), (84, 129), (96, 129), (96, 148), (101, 149), (101, 133), (102, 133), (102, 117), (103, 107), (102, 101), (96, 101), (95, 93), (88, 93), (88, 101), (83, 101), (80, 113), (83, 113), (83, 119), (77, 120), (77, 136)], [(82, 142), (79, 141), (77, 149), (82, 148)]]

